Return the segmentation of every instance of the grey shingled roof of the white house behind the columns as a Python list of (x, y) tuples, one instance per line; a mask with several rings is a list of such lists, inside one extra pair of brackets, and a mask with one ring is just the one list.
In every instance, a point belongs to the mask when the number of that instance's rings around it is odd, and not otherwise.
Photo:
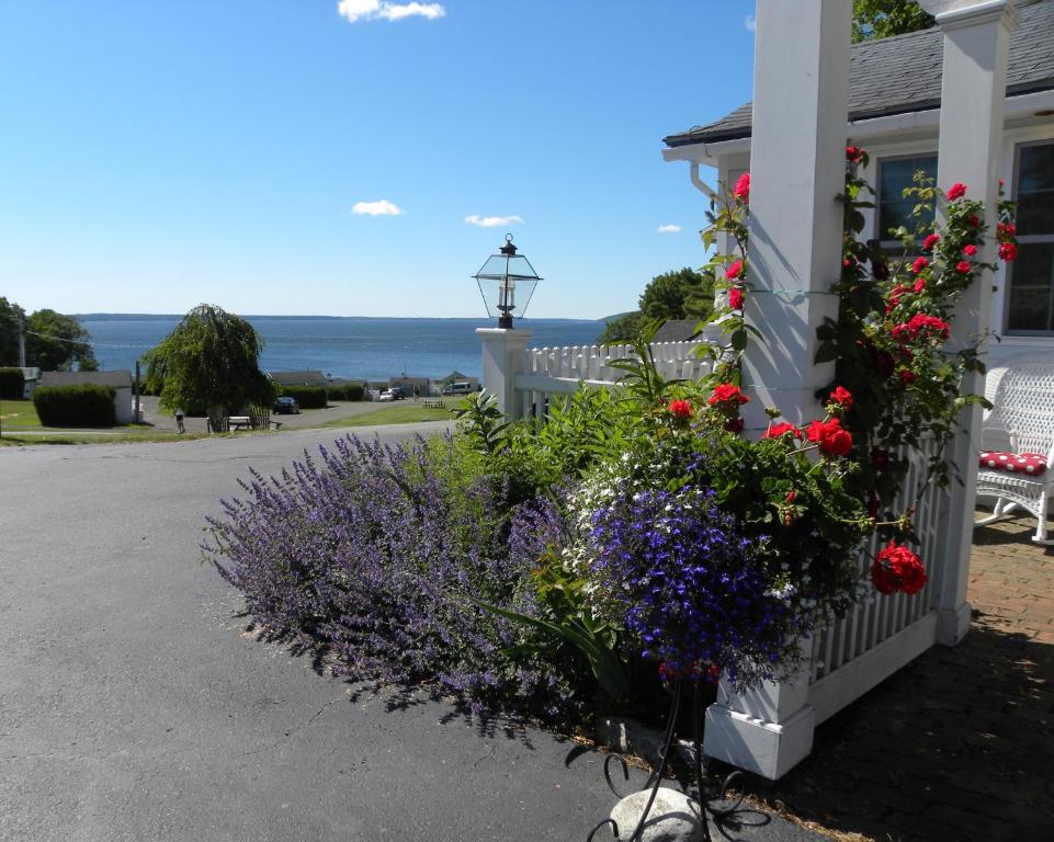
[[(1054, 89), (1054, 2), (1018, 9), (1010, 34), (1007, 96)], [(941, 104), (944, 39), (938, 27), (853, 44), (849, 57), (849, 120), (928, 111)], [(715, 123), (664, 138), (667, 146), (750, 137), (752, 103)]]

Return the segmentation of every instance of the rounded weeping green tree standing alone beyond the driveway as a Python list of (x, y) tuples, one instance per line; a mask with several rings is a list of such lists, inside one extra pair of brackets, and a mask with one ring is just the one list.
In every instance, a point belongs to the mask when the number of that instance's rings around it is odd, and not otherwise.
[(258, 360), (263, 343), (252, 326), (211, 304), (188, 312), (146, 354), (146, 389), (168, 411), (212, 417), (274, 399)]

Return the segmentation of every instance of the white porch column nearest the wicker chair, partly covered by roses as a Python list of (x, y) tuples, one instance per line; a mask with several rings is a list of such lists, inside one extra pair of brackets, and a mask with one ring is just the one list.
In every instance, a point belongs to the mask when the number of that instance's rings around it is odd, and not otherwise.
[[(923, 0), (944, 33), (944, 67), (941, 80), (941, 123), (937, 183), (948, 190), (955, 182), (967, 185), (968, 198), (985, 203), (985, 223), (995, 236), (999, 201), (999, 166), (1002, 149), (1004, 104), (1007, 90), (1007, 54), (1010, 32), (1017, 25), (1013, 0)], [(940, 214), (940, 209), (938, 209)], [(989, 239), (978, 253), (997, 262)], [(989, 328), (991, 281), (978, 280), (955, 309), (949, 348), (963, 348), (971, 334)], [(984, 395), (984, 377), (966, 376), (966, 392)], [(981, 445), (981, 407), (960, 414), (965, 425), (949, 446), (948, 458), (963, 479), (950, 487), (950, 507), (942, 525), (948, 555), (937, 582), (938, 641), (954, 646), (970, 627), (966, 585), (976, 491), (977, 451)]]

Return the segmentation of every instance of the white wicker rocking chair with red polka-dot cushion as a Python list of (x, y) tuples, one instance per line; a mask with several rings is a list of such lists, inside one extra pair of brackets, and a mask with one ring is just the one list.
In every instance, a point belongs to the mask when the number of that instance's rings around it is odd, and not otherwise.
[(996, 504), (975, 525), (1021, 508), (1039, 521), (1032, 541), (1054, 544), (1046, 537), (1047, 503), (1054, 493), (1054, 353), (1011, 357), (988, 373), (986, 385), (994, 407), (985, 413), (982, 448), (1044, 454), (1047, 467), (1039, 477), (978, 468), (977, 497), (995, 498)]

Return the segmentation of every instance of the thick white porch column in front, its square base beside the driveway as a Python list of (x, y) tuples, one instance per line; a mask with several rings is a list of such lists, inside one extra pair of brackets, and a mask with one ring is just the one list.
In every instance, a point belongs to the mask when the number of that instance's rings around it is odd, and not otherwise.
[[(847, 0), (758, 0), (746, 317), (766, 341), (751, 337), (746, 352), (748, 431), (764, 429), (768, 406), (796, 424), (819, 417), (814, 394), (834, 376), (832, 364), (813, 359), (816, 328), (838, 315), (830, 287), (841, 266), (836, 196), (845, 190), (851, 19)], [(812, 749), (807, 695), (805, 674), (728, 692), (706, 710), (704, 752), (780, 777)]]

